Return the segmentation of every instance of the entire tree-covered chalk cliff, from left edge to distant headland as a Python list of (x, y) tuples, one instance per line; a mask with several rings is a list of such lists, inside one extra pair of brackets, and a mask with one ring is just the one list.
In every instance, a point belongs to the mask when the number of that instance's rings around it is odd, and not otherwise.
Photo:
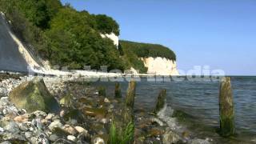
[[(1, 47), (0, 70), (7, 67), (23, 71), (30, 66), (38, 73), (60, 74), (62, 67), (84, 70), (84, 66), (90, 66), (91, 70), (101, 70), (101, 66), (108, 66), (109, 71), (134, 68), (138, 74), (177, 74), (172, 50), (157, 44), (119, 41), (118, 23), (104, 14), (80, 12), (62, 6), (60, 1), (47, 0), (42, 5), (32, 1), (0, 2), (0, 11), (6, 14), (6, 20), (1, 19), (5, 46)], [(27, 6), (30, 8), (24, 9)], [(41, 6), (50, 11), (40, 9)], [(38, 19), (38, 14), (42, 18)], [(5, 52), (6, 49), (15, 53)], [(159, 62), (165, 65), (159, 66)]]

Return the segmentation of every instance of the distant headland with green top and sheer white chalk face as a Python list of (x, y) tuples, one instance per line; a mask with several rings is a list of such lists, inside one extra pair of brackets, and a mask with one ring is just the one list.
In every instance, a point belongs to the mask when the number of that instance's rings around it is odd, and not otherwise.
[(176, 54), (166, 46), (120, 41), (118, 47), (134, 74), (178, 75)]

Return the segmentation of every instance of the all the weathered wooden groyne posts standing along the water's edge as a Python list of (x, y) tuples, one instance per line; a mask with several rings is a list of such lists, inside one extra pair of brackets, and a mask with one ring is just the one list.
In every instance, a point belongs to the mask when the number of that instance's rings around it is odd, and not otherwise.
[[(125, 106), (122, 109), (122, 118), (113, 118), (110, 127), (111, 143), (133, 143), (134, 141), (134, 97), (136, 82), (130, 81), (126, 91)], [(98, 94), (106, 96), (106, 88), (98, 87)], [(122, 98), (121, 86), (117, 82), (114, 90), (115, 98)], [(166, 90), (161, 90), (154, 107), (157, 114), (166, 102)], [(222, 137), (230, 137), (235, 134), (234, 126), (234, 102), (230, 83), (230, 77), (222, 78), (219, 88), (219, 130)]]

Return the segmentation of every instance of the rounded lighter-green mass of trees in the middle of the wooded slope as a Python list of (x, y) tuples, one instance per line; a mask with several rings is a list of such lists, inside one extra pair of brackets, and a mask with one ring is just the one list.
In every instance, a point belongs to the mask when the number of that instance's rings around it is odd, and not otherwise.
[(62, 65), (75, 69), (84, 65), (94, 69), (100, 66), (124, 69), (116, 46), (110, 39), (100, 36), (94, 29), (94, 18), (86, 11), (78, 13), (70, 7), (59, 10), (46, 36), (50, 38), (49, 56), (53, 63), (61, 61)]

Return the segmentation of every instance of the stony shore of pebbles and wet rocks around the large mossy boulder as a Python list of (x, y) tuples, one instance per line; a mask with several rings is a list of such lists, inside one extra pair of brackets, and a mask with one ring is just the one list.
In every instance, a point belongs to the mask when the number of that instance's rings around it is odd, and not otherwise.
[[(99, 94), (88, 82), (45, 77), (43, 82), (60, 104), (60, 110), (55, 114), (42, 110), (29, 113), (10, 102), (14, 89), (34, 79), (19, 76), (0, 81), (0, 142), (110, 143), (110, 126), (113, 118), (118, 122), (121, 117), (123, 98)], [(134, 143), (210, 143), (210, 139), (190, 138), (186, 131), (176, 132), (172, 121), (166, 122), (161, 115), (163, 111), (134, 113)]]

